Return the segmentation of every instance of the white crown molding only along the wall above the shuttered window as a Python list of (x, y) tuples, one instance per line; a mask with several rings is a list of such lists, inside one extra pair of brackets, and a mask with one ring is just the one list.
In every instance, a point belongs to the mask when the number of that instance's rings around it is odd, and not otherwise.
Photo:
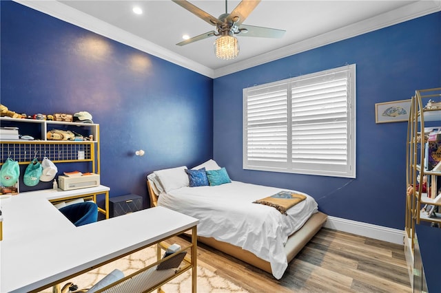
[(409, 21), (411, 19), (416, 19), (418, 17), (423, 17), (424, 15), (438, 12), (440, 10), (440, 0), (421, 0), (415, 3), (411, 3), (407, 6), (403, 6), (402, 8), (385, 12), (383, 14), (378, 14), (375, 17), (371, 17), (370, 19), (365, 19), (364, 21), (359, 21), (358, 23), (353, 23), (343, 28), (327, 32), (325, 34), (320, 34), (310, 39), (287, 45), (286, 47), (282, 47), (280, 49), (273, 50), (265, 54), (260, 54), (252, 58), (248, 58), (247, 60), (234, 63), (232, 65), (220, 67), (214, 70), (214, 78), (225, 76), (227, 74), (232, 74), (234, 72), (239, 72), (241, 70), (248, 69), (257, 65), (262, 65), (271, 61), (276, 61), (280, 58), (285, 58), (287, 56), (305, 52), (311, 49), (315, 49), (317, 47), (336, 43), (338, 41), (349, 39), (354, 36), (359, 36), (360, 34), (365, 34), (367, 32), (373, 32), (375, 30), (387, 28), (388, 26), (402, 23), (404, 21)]

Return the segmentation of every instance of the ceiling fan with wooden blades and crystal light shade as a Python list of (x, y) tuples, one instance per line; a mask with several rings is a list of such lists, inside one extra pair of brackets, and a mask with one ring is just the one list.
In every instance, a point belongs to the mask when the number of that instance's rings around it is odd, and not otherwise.
[(187, 45), (196, 41), (201, 41), (207, 39), (210, 36), (219, 36), (214, 42), (214, 49), (216, 52), (216, 57), (227, 60), (236, 58), (239, 53), (239, 46), (235, 34), (240, 34), (241, 36), (258, 36), (262, 38), (281, 38), (285, 34), (285, 30), (277, 30), (274, 28), (263, 28), (254, 25), (243, 25), (243, 21), (248, 17), (248, 15), (258, 6), (260, 0), (242, 0), (234, 8), (231, 13), (227, 11), (227, 0), (225, 0), (225, 14), (221, 14), (220, 17), (213, 17), (211, 14), (201, 10), (200, 8), (194, 6), (192, 3), (186, 0), (172, 0), (174, 3), (185, 8), (189, 12), (192, 12), (209, 23), (210, 25), (216, 26), (217, 32), (214, 30), (210, 32), (205, 32), (198, 36), (194, 36), (191, 39), (177, 43), (176, 45)]

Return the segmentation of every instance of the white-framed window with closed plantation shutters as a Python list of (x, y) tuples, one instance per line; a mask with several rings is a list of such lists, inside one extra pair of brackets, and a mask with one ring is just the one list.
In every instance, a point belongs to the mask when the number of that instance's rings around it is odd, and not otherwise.
[(243, 89), (243, 168), (356, 177), (356, 65)]

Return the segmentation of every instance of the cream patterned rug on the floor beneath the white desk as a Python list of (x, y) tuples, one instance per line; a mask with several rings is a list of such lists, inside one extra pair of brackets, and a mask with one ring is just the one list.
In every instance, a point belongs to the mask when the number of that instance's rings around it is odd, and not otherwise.
[[(80, 276), (72, 278), (72, 283), (78, 285), (79, 289), (90, 288), (92, 285), (103, 279), (104, 276), (112, 272), (114, 269), (119, 269), (124, 272), (125, 276), (145, 268), (147, 265), (156, 261), (156, 248), (150, 247), (133, 254), (127, 255), (122, 259), (113, 261), (112, 263), (107, 263), (106, 265), (91, 270)], [(247, 290), (234, 284), (232, 281), (224, 279), (218, 276), (215, 272), (216, 270), (212, 268), (207, 263), (198, 261), (198, 277), (197, 277), (197, 291), (198, 293), (249, 293)], [(62, 283), (65, 284), (68, 281)], [(192, 292), (192, 274), (191, 270), (184, 272), (180, 276), (161, 287), (166, 293), (187, 293)], [(44, 293), (52, 293), (52, 289), (46, 289), (41, 291)], [(155, 290), (156, 292), (156, 290)], [(121, 292), (124, 293), (124, 292)]]

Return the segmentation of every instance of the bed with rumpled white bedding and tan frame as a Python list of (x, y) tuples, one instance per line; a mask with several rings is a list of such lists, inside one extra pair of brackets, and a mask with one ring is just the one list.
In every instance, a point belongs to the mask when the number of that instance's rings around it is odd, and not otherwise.
[[(220, 184), (194, 186), (192, 171), (226, 174)], [(192, 174), (190, 174), (192, 172)], [(196, 173), (195, 172), (195, 173)], [(218, 178), (217, 178), (218, 179)], [(215, 178), (215, 180), (217, 180)], [(214, 182), (216, 183), (216, 182)], [(289, 261), (320, 230), (327, 215), (313, 197), (286, 210), (256, 204), (281, 188), (229, 180), (225, 168), (209, 160), (188, 170), (185, 166), (155, 171), (147, 176), (151, 206), (164, 206), (200, 220), (198, 241), (256, 266), (280, 279)]]

